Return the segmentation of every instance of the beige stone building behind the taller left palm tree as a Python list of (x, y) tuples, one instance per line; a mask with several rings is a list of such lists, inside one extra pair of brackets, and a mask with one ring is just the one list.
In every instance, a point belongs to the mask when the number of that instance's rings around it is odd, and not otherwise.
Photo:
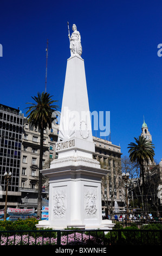
[[(57, 142), (57, 125), (52, 129), (44, 130), (43, 168), (50, 167), (50, 161), (56, 158), (55, 144)], [(37, 208), (38, 195), (38, 164), (40, 158), (40, 131), (31, 126), (24, 118), (22, 137), (22, 157), (20, 186), (20, 208)], [(42, 184), (42, 199), (48, 200), (48, 180), (44, 177)]]

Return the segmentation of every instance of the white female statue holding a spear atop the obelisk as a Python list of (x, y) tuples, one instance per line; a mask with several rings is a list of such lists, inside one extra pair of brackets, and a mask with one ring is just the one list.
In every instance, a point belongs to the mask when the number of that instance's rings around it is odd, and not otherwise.
[[(69, 29), (69, 23), (68, 23), (68, 29)], [(82, 46), (81, 46), (81, 36), (79, 31), (77, 31), (76, 25), (73, 24), (73, 33), (70, 38), (70, 33), (69, 33), (69, 40), (70, 40), (70, 52), (71, 52), (71, 57), (72, 56), (81, 56), (82, 54)]]

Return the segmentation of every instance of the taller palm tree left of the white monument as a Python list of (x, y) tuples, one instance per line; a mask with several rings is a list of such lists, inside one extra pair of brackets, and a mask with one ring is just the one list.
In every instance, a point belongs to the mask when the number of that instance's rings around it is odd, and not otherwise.
[(28, 111), (28, 123), (31, 125), (38, 127), (40, 129), (40, 161), (39, 161), (39, 178), (38, 178), (38, 204), (37, 204), (37, 216), (41, 217), (41, 209), (42, 209), (42, 160), (43, 160), (43, 133), (44, 129), (51, 128), (52, 124), (52, 114), (54, 119), (56, 115), (59, 113), (57, 109), (59, 106), (53, 105), (57, 100), (51, 100), (51, 96), (48, 93), (40, 94), (38, 92), (38, 96), (32, 97), (35, 103), (27, 102), (30, 104)]

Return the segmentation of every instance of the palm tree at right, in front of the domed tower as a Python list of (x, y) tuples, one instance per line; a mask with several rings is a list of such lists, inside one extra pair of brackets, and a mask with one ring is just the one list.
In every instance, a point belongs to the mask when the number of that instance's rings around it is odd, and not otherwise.
[(154, 145), (151, 141), (147, 141), (145, 137), (139, 136), (139, 138), (134, 138), (136, 143), (131, 142), (129, 145), (129, 158), (131, 162), (137, 162), (140, 164), (141, 174), (142, 174), (142, 192), (144, 196), (144, 211), (146, 214), (146, 188), (145, 188), (145, 169), (144, 163), (148, 164), (148, 161), (153, 162), (154, 156)]

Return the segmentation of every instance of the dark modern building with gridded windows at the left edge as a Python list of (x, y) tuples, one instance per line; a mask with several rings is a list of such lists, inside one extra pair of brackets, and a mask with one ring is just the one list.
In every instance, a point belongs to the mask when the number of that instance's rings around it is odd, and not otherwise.
[(6, 181), (4, 173), (11, 173), (8, 186), (10, 207), (17, 207), (21, 198), (19, 180), (21, 170), (21, 150), (23, 114), (17, 108), (0, 105), (0, 208), (5, 206)]

